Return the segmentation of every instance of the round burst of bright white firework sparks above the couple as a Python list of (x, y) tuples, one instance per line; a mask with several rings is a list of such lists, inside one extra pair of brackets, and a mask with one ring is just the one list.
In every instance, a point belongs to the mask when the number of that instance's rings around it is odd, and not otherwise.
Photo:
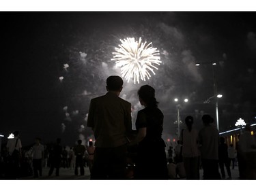
[[(121, 67), (122, 77), (130, 80), (133, 77), (134, 84), (139, 84), (139, 79), (145, 81), (150, 79), (150, 72), (154, 73), (153, 69), (158, 69), (155, 65), (160, 65), (160, 53), (156, 48), (152, 48), (152, 42), (147, 44), (135, 41), (134, 38), (120, 39), (122, 44), (119, 48), (115, 48), (114, 56), (111, 60), (115, 60), (117, 67)], [(156, 73), (154, 73), (156, 74)]]

